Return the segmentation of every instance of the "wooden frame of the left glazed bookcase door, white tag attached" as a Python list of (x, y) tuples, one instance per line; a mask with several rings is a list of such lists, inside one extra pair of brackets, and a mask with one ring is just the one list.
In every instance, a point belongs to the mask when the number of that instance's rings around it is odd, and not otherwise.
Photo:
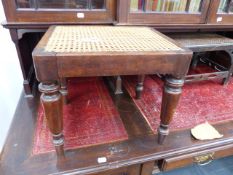
[[(112, 23), (115, 20), (115, 4), (115, 0), (107, 0), (106, 10), (18, 9), (14, 0), (3, 0), (8, 22)], [(77, 18), (77, 13), (84, 13), (84, 18)]]

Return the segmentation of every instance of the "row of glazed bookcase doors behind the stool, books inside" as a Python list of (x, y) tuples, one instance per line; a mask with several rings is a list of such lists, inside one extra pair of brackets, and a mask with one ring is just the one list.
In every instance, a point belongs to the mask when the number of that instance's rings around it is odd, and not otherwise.
[[(231, 0), (2, 0), (8, 23), (233, 24)], [(156, 4), (155, 4), (156, 3)], [(214, 26), (213, 26), (214, 25)], [(202, 27), (203, 28), (203, 27)], [(228, 27), (229, 28), (229, 27)]]

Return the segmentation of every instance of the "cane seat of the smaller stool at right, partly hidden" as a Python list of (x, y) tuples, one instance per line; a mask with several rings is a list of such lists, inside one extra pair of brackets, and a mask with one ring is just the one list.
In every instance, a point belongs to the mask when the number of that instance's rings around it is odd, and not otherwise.
[(233, 39), (217, 34), (173, 34), (169, 35), (185, 47), (232, 45)]

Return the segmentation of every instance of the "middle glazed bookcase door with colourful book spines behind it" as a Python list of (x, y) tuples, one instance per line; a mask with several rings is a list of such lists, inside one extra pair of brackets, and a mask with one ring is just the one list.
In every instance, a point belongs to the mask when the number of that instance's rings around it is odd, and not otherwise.
[[(123, 0), (122, 0), (123, 1)], [(129, 23), (204, 23), (209, 0), (128, 0)]]

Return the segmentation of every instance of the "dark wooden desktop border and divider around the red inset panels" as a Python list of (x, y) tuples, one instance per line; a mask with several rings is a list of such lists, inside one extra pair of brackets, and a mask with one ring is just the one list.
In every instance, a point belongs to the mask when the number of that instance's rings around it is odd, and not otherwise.
[[(123, 89), (124, 90), (124, 89)], [(66, 159), (57, 160), (54, 152), (31, 156), (34, 128), (37, 117), (39, 98), (20, 98), (14, 120), (1, 155), (0, 173), (2, 175), (37, 175), (37, 174), (103, 174), (100, 172), (145, 162), (166, 159), (186, 154), (198, 154), (210, 149), (232, 147), (232, 122), (215, 125), (224, 134), (222, 139), (197, 141), (190, 136), (189, 130), (172, 132), (166, 144), (160, 146), (152, 134), (147, 122), (135, 107), (132, 99), (125, 95), (112, 95), (112, 99), (121, 115), (129, 140), (66, 150)], [(26, 128), (26, 129), (25, 129)], [(109, 149), (117, 151), (106, 164), (98, 164), (97, 157), (109, 154)], [(225, 152), (226, 153), (226, 152)], [(126, 172), (126, 170), (123, 170)]]

